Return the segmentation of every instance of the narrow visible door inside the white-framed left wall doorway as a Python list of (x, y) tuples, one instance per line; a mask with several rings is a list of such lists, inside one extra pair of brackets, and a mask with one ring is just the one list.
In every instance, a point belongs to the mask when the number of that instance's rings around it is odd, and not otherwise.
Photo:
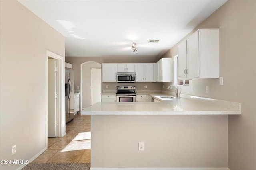
[(48, 59), (48, 137), (56, 137), (56, 60)]

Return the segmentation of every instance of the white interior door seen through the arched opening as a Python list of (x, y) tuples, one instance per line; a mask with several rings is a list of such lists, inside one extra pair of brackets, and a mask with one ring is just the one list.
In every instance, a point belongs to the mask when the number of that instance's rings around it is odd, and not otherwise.
[(92, 68), (91, 86), (91, 104), (93, 105), (101, 101), (101, 68)]

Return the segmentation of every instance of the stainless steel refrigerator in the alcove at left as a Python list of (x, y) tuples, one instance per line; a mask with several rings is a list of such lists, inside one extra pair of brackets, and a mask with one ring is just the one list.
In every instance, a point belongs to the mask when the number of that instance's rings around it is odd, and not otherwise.
[(65, 68), (66, 123), (74, 119), (74, 70)]

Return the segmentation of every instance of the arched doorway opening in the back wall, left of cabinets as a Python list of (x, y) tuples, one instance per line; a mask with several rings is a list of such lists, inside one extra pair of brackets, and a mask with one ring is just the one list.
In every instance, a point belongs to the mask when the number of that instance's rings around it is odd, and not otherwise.
[[(96, 73), (96, 72), (99, 72), (99, 69), (100, 69), (100, 74)], [(94, 79), (100, 80), (100, 82), (97, 82), (98, 87), (96, 89), (94, 88), (93, 90), (92, 90), (92, 70), (94, 70), (95, 74), (98, 75), (97, 78), (94, 78)], [(82, 63), (80, 80), (81, 80), (80, 111), (82, 111), (83, 108), (86, 108), (92, 105), (92, 98), (95, 98), (92, 96), (93, 94), (100, 95), (101, 93), (101, 64), (95, 61), (87, 61), (85, 63)], [(93, 84), (94, 84), (93, 87), (96, 86), (95, 85), (96, 83), (93, 83)]]

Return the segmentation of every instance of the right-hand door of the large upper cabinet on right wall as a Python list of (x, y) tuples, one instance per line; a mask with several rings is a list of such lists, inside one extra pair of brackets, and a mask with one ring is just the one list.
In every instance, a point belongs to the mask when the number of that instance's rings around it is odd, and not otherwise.
[(199, 33), (187, 39), (187, 78), (199, 77)]

